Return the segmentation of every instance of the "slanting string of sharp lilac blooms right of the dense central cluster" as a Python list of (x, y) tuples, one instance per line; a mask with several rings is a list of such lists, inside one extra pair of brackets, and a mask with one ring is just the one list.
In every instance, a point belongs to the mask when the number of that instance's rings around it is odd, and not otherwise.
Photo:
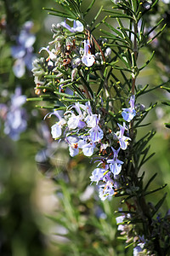
[[(134, 108), (134, 96), (131, 96), (129, 104), (130, 108), (123, 108), (122, 109), (122, 118), (130, 122), (133, 117), (136, 115), (136, 110)], [(90, 177), (92, 182), (96, 182), (97, 184), (99, 181), (103, 183), (99, 185), (99, 197), (102, 201), (105, 201), (106, 198), (115, 194), (115, 189), (119, 188), (118, 175), (122, 171), (122, 164), (123, 161), (118, 159), (118, 154), (120, 150), (126, 150), (128, 141), (131, 140), (130, 137), (124, 136), (124, 132), (128, 130), (127, 125), (123, 123), (123, 125), (117, 124), (119, 126), (120, 131), (117, 131), (114, 136), (116, 140), (118, 140), (119, 148), (115, 149), (112, 148), (113, 157), (112, 159), (106, 158), (104, 160), (100, 160), (99, 165), (101, 163), (105, 163), (102, 165), (102, 168), (98, 167), (94, 169), (92, 172), (92, 176)], [(113, 137), (114, 140), (114, 137)]]

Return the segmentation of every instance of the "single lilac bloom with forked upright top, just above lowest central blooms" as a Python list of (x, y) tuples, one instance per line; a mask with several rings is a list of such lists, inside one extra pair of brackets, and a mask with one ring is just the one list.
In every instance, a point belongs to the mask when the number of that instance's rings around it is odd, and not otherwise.
[(113, 159), (112, 160), (107, 160), (107, 163), (110, 164), (109, 165), (110, 170), (114, 174), (114, 177), (115, 177), (116, 175), (118, 175), (122, 171), (123, 162), (121, 160), (117, 159), (120, 148), (118, 150), (115, 150), (114, 148), (112, 148), (112, 150), (113, 150)]

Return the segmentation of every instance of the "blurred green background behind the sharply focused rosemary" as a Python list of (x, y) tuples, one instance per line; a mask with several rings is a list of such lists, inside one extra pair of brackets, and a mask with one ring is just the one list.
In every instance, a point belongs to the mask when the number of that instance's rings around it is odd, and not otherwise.
[[(94, 14), (101, 3), (96, 1)], [(51, 25), (60, 20), (48, 15), (42, 7), (56, 5), (52, 0), (0, 1), (1, 103), (8, 102), (8, 95), (14, 93), (16, 86), (22, 88), (24, 95), (35, 96), (29, 71), (21, 79), (15, 78), (10, 47), (16, 44), (15, 38), (26, 20), (34, 22), (36, 54), (51, 41)], [(106, 7), (111, 7), (109, 1), (105, 1)], [(158, 19), (165, 15), (168, 7), (161, 2), (148, 16), (148, 26), (153, 17)], [(159, 42), (161, 49), (157, 49), (155, 59), (140, 74), (139, 84), (153, 86), (169, 79), (169, 26)], [(144, 49), (141, 61), (147, 59), (154, 48), (152, 44)], [(156, 152), (156, 155), (141, 172), (147, 173), (145, 179), (158, 172), (153, 189), (168, 184), (164, 189), (167, 201), (161, 208), (162, 214), (170, 208), (170, 133), (164, 125), (170, 122), (170, 110), (161, 104), (167, 98), (168, 93), (159, 89), (140, 99), (147, 107), (150, 102), (158, 102), (148, 117), (149, 127), (140, 128), (139, 137), (147, 129), (157, 131), (150, 147), (150, 153)], [(25, 104), (28, 126), (19, 141), (14, 142), (4, 135), (3, 122), (0, 124), (0, 255), (132, 255), (133, 249), (125, 249), (124, 241), (116, 238), (115, 218), (118, 215), (115, 211), (121, 207), (119, 199), (99, 201), (97, 189), (89, 185), (92, 164), (82, 155), (71, 159), (65, 144), (51, 142), (48, 125), (42, 120), (46, 112), (36, 109), (35, 104)], [(165, 192), (158, 192), (157, 198)], [(150, 196), (149, 200), (156, 203), (157, 198)]]

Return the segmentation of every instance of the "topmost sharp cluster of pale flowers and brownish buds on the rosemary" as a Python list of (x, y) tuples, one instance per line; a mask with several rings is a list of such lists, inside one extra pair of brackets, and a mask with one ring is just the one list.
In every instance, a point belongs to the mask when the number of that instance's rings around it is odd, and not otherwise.
[[(91, 67), (94, 65), (94, 62), (101, 64), (102, 56), (99, 52), (94, 53), (92, 46), (89, 42), (89, 38), (83, 40), (83, 48), (81, 44), (76, 44), (76, 39), (74, 36), (66, 35), (63, 31), (63, 28), (66, 28), (71, 33), (83, 32), (84, 26), (79, 20), (70, 20), (73, 21), (73, 26), (69, 26), (66, 23), (66, 20), (57, 24), (52, 25), (52, 32), (54, 32), (54, 40), (48, 43), (47, 47), (42, 47), (39, 53), (42, 50), (48, 52), (48, 67), (50, 67), (53, 72), (57, 73), (55, 67), (70, 67), (72, 69), (78, 67), (79, 65), (85, 65), (86, 67)], [(54, 45), (54, 48), (52, 48)], [(104, 52), (105, 57), (110, 57), (111, 49), (109, 47), (105, 48)], [(73, 71), (74, 72), (74, 71)]]

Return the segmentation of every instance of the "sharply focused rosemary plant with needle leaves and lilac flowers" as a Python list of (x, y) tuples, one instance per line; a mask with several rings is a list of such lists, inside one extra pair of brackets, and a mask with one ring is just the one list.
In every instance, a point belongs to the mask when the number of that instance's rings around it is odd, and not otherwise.
[(145, 108), (141, 96), (163, 85), (149, 87), (137, 80), (154, 51), (143, 64), (139, 54), (166, 26), (160, 20), (150, 30), (145, 27), (144, 16), (158, 1), (112, 0), (112, 9), (101, 6), (90, 22), (95, 0), (86, 9), (82, 0), (56, 2), (49, 14), (63, 21), (52, 26), (52, 41), (40, 49), (45, 57), (33, 62), (38, 97), (28, 101), (42, 102), (37, 108), (48, 110), (44, 119), (55, 116), (52, 137), (67, 143), (71, 157), (84, 154), (94, 163), (90, 180), (99, 186), (99, 198), (121, 198), (116, 221), (133, 255), (168, 255), (169, 215), (156, 218), (166, 194), (156, 205), (146, 200), (166, 185), (150, 190), (156, 174), (144, 183), (140, 172), (154, 155), (149, 143), (155, 131), (138, 136), (156, 107), (150, 102)]

